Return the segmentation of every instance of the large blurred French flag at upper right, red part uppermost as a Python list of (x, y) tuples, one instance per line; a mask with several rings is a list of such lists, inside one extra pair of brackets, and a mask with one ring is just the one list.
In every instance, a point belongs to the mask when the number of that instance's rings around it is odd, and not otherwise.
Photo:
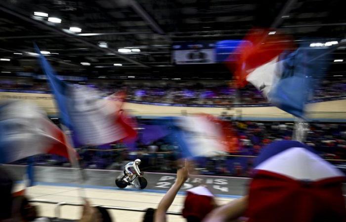
[(234, 72), (238, 86), (251, 82), (268, 102), (303, 117), (304, 105), (327, 68), (327, 49), (302, 45), (292, 51), (290, 39), (268, 33), (251, 32), (245, 40), (252, 44), (239, 46)]

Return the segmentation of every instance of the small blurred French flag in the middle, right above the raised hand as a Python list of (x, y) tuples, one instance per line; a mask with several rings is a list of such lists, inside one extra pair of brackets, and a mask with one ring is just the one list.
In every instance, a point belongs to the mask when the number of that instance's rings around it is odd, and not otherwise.
[[(166, 130), (168, 139), (177, 144), (183, 157), (212, 156), (230, 151), (230, 140), (217, 120), (210, 115), (193, 115), (167, 117), (160, 119)], [(234, 147), (231, 147), (233, 150)]]

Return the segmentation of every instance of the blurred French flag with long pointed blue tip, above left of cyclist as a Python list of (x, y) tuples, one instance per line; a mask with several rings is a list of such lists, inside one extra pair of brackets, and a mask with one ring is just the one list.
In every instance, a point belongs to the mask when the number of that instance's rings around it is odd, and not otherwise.
[(136, 136), (129, 119), (119, 110), (119, 101), (113, 96), (102, 98), (87, 86), (72, 85), (58, 79), (40, 49), (35, 47), (63, 123), (73, 132), (75, 146), (97, 146)]

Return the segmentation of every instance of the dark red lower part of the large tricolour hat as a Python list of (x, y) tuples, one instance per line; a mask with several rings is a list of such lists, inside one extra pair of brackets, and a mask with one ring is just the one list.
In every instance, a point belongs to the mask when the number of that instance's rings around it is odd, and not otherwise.
[(344, 177), (296, 181), (258, 171), (250, 184), (249, 222), (343, 222), (343, 182)]

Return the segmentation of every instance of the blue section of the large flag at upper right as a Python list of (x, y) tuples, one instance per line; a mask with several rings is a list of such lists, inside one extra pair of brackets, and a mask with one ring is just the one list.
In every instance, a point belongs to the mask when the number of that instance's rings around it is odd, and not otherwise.
[[(281, 78), (268, 93), (269, 102), (283, 111), (304, 118), (305, 104), (323, 78), (328, 66), (325, 61), (330, 54), (326, 53), (326, 50), (325, 48), (300, 47), (284, 56), (285, 58), (277, 64), (281, 71)], [(318, 56), (320, 56), (319, 59), (314, 60)]]

